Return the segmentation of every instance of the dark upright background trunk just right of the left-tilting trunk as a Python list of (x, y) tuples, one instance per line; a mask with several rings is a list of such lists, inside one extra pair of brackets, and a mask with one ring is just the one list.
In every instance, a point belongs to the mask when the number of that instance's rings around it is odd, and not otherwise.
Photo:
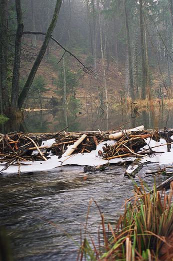
[(142, 67), (142, 78), (141, 78), (141, 99), (145, 100), (146, 93), (146, 61), (145, 61), (145, 45), (143, 35), (143, 14), (142, 14), (142, 0), (139, 0), (139, 23), (140, 23), (140, 43), (141, 43), (141, 67)]

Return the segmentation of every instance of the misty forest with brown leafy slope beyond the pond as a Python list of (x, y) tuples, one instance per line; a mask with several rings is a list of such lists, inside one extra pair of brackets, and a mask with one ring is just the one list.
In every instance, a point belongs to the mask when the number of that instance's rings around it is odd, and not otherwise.
[(172, 0), (0, 0), (0, 113), (170, 101), (172, 41)]

